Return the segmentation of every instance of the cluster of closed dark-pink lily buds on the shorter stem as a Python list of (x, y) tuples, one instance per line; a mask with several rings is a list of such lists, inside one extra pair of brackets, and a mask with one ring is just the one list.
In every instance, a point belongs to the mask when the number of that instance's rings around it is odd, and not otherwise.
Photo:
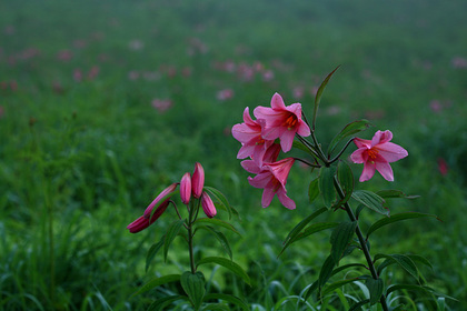
[[(206, 191), (205, 187), (205, 170), (200, 163), (196, 163), (192, 175), (187, 172), (181, 178), (180, 182), (176, 182), (162, 190), (159, 195), (148, 205), (145, 213), (128, 224), (127, 229), (131, 233), (137, 233), (150, 224), (152, 224), (158, 218), (166, 211), (171, 201), (171, 197), (176, 191), (177, 187), (180, 185), (180, 199), (187, 207), (191, 200), (200, 200), (202, 210), (208, 218), (213, 218), (217, 213), (216, 207)], [(175, 203), (173, 203), (175, 204)]]

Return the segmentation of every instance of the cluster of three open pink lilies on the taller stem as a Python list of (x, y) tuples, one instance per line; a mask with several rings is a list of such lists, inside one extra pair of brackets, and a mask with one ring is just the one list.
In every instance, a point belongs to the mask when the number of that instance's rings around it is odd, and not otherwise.
[[(244, 123), (235, 124), (232, 136), (241, 148), (238, 159), (245, 160), (241, 165), (245, 170), (256, 174), (248, 178), (255, 188), (264, 189), (261, 204), (268, 207), (275, 194), (288, 209), (295, 209), (295, 202), (287, 197), (287, 177), (295, 162), (294, 158), (278, 161), (280, 150), (288, 152), (294, 143), (296, 134), (308, 137), (310, 128), (301, 119), (301, 104), (286, 106), (280, 94), (275, 93), (269, 107), (257, 107), (252, 120), (247, 107), (244, 111)], [(280, 144), (275, 141), (279, 139)]]

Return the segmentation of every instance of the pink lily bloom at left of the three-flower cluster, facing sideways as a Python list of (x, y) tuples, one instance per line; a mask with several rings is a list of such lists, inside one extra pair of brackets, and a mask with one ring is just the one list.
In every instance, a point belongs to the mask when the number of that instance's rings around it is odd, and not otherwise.
[(272, 144), (274, 140), (265, 140), (261, 136), (264, 120), (252, 120), (248, 107), (244, 111), (244, 123), (235, 124), (232, 128), (232, 136), (236, 140), (241, 142), (241, 148), (238, 151), (237, 159), (251, 159), (260, 163), (262, 161), (266, 149)]

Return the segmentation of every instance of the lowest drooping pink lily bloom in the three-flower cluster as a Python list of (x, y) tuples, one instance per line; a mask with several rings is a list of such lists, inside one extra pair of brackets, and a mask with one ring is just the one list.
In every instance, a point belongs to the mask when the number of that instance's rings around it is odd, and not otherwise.
[(294, 200), (287, 197), (286, 190), (287, 178), (294, 162), (294, 158), (286, 158), (275, 163), (266, 163), (255, 178), (248, 178), (252, 187), (265, 189), (261, 199), (261, 205), (264, 208), (269, 207), (275, 194), (277, 194), (280, 203), (287, 209), (294, 210), (296, 208)]

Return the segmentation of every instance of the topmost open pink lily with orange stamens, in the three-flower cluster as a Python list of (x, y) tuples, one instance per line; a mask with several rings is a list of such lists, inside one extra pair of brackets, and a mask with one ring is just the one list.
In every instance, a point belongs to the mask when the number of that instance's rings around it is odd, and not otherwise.
[(272, 96), (271, 108), (259, 106), (254, 114), (257, 119), (266, 121), (262, 138), (265, 140), (279, 138), (284, 152), (291, 149), (296, 133), (302, 137), (310, 134), (310, 128), (301, 120), (301, 104), (297, 102), (286, 107), (279, 93)]

